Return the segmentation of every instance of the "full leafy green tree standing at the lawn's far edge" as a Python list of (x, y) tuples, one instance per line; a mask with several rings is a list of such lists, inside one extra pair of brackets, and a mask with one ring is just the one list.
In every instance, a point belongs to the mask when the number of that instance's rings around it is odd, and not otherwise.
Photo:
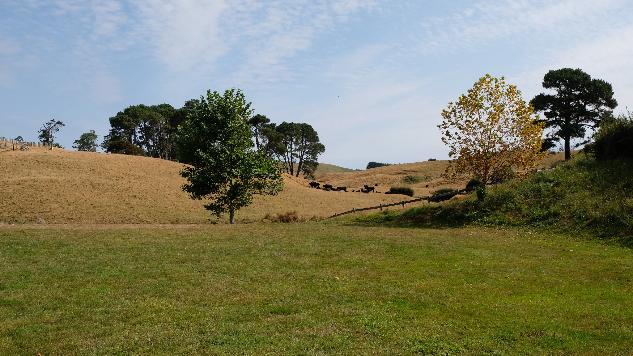
[(284, 189), (279, 161), (253, 149), (250, 106), (240, 90), (227, 89), (223, 96), (207, 91), (175, 139), (180, 162), (188, 165), (180, 171), (187, 179), (182, 189), (192, 199), (210, 200), (204, 208), (217, 217), (229, 212), (230, 224), (235, 210), (248, 207), (254, 194)]

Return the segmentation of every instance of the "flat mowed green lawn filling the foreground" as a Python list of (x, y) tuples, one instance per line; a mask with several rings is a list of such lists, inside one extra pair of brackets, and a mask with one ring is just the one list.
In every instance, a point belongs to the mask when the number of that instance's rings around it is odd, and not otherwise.
[(633, 253), (496, 229), (0, 227), (0, 355), (629, 355)]

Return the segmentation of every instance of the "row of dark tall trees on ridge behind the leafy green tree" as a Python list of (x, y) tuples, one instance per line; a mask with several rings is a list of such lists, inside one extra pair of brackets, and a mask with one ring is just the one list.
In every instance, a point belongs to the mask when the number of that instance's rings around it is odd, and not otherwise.
[[(101, 148), (109, 153), (177, 160), (175, 136), (197, 105), (201, 105), (199, 99), (186, 101), (179, 109), (170, 104), (128, 106), (110, 118), (110, 133), (104, 136)], [(288, 174), (299, 177), (303, 173), (306, 178), (314, 178), (318, 156), (325, 146), (310, 124), (277, 125), (261, 114), (249, 118), (248, 124), (254, 148), (283, 162)]]

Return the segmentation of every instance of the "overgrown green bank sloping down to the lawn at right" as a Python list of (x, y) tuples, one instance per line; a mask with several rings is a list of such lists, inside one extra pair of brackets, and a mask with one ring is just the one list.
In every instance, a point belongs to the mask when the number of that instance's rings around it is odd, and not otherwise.
[(396, 220), (422, 226), (539, 226), (633, 245), (633, 164), (578, 153), (555, 170), (487, 189), (484, 203), (468, 195), (408, 210)]

